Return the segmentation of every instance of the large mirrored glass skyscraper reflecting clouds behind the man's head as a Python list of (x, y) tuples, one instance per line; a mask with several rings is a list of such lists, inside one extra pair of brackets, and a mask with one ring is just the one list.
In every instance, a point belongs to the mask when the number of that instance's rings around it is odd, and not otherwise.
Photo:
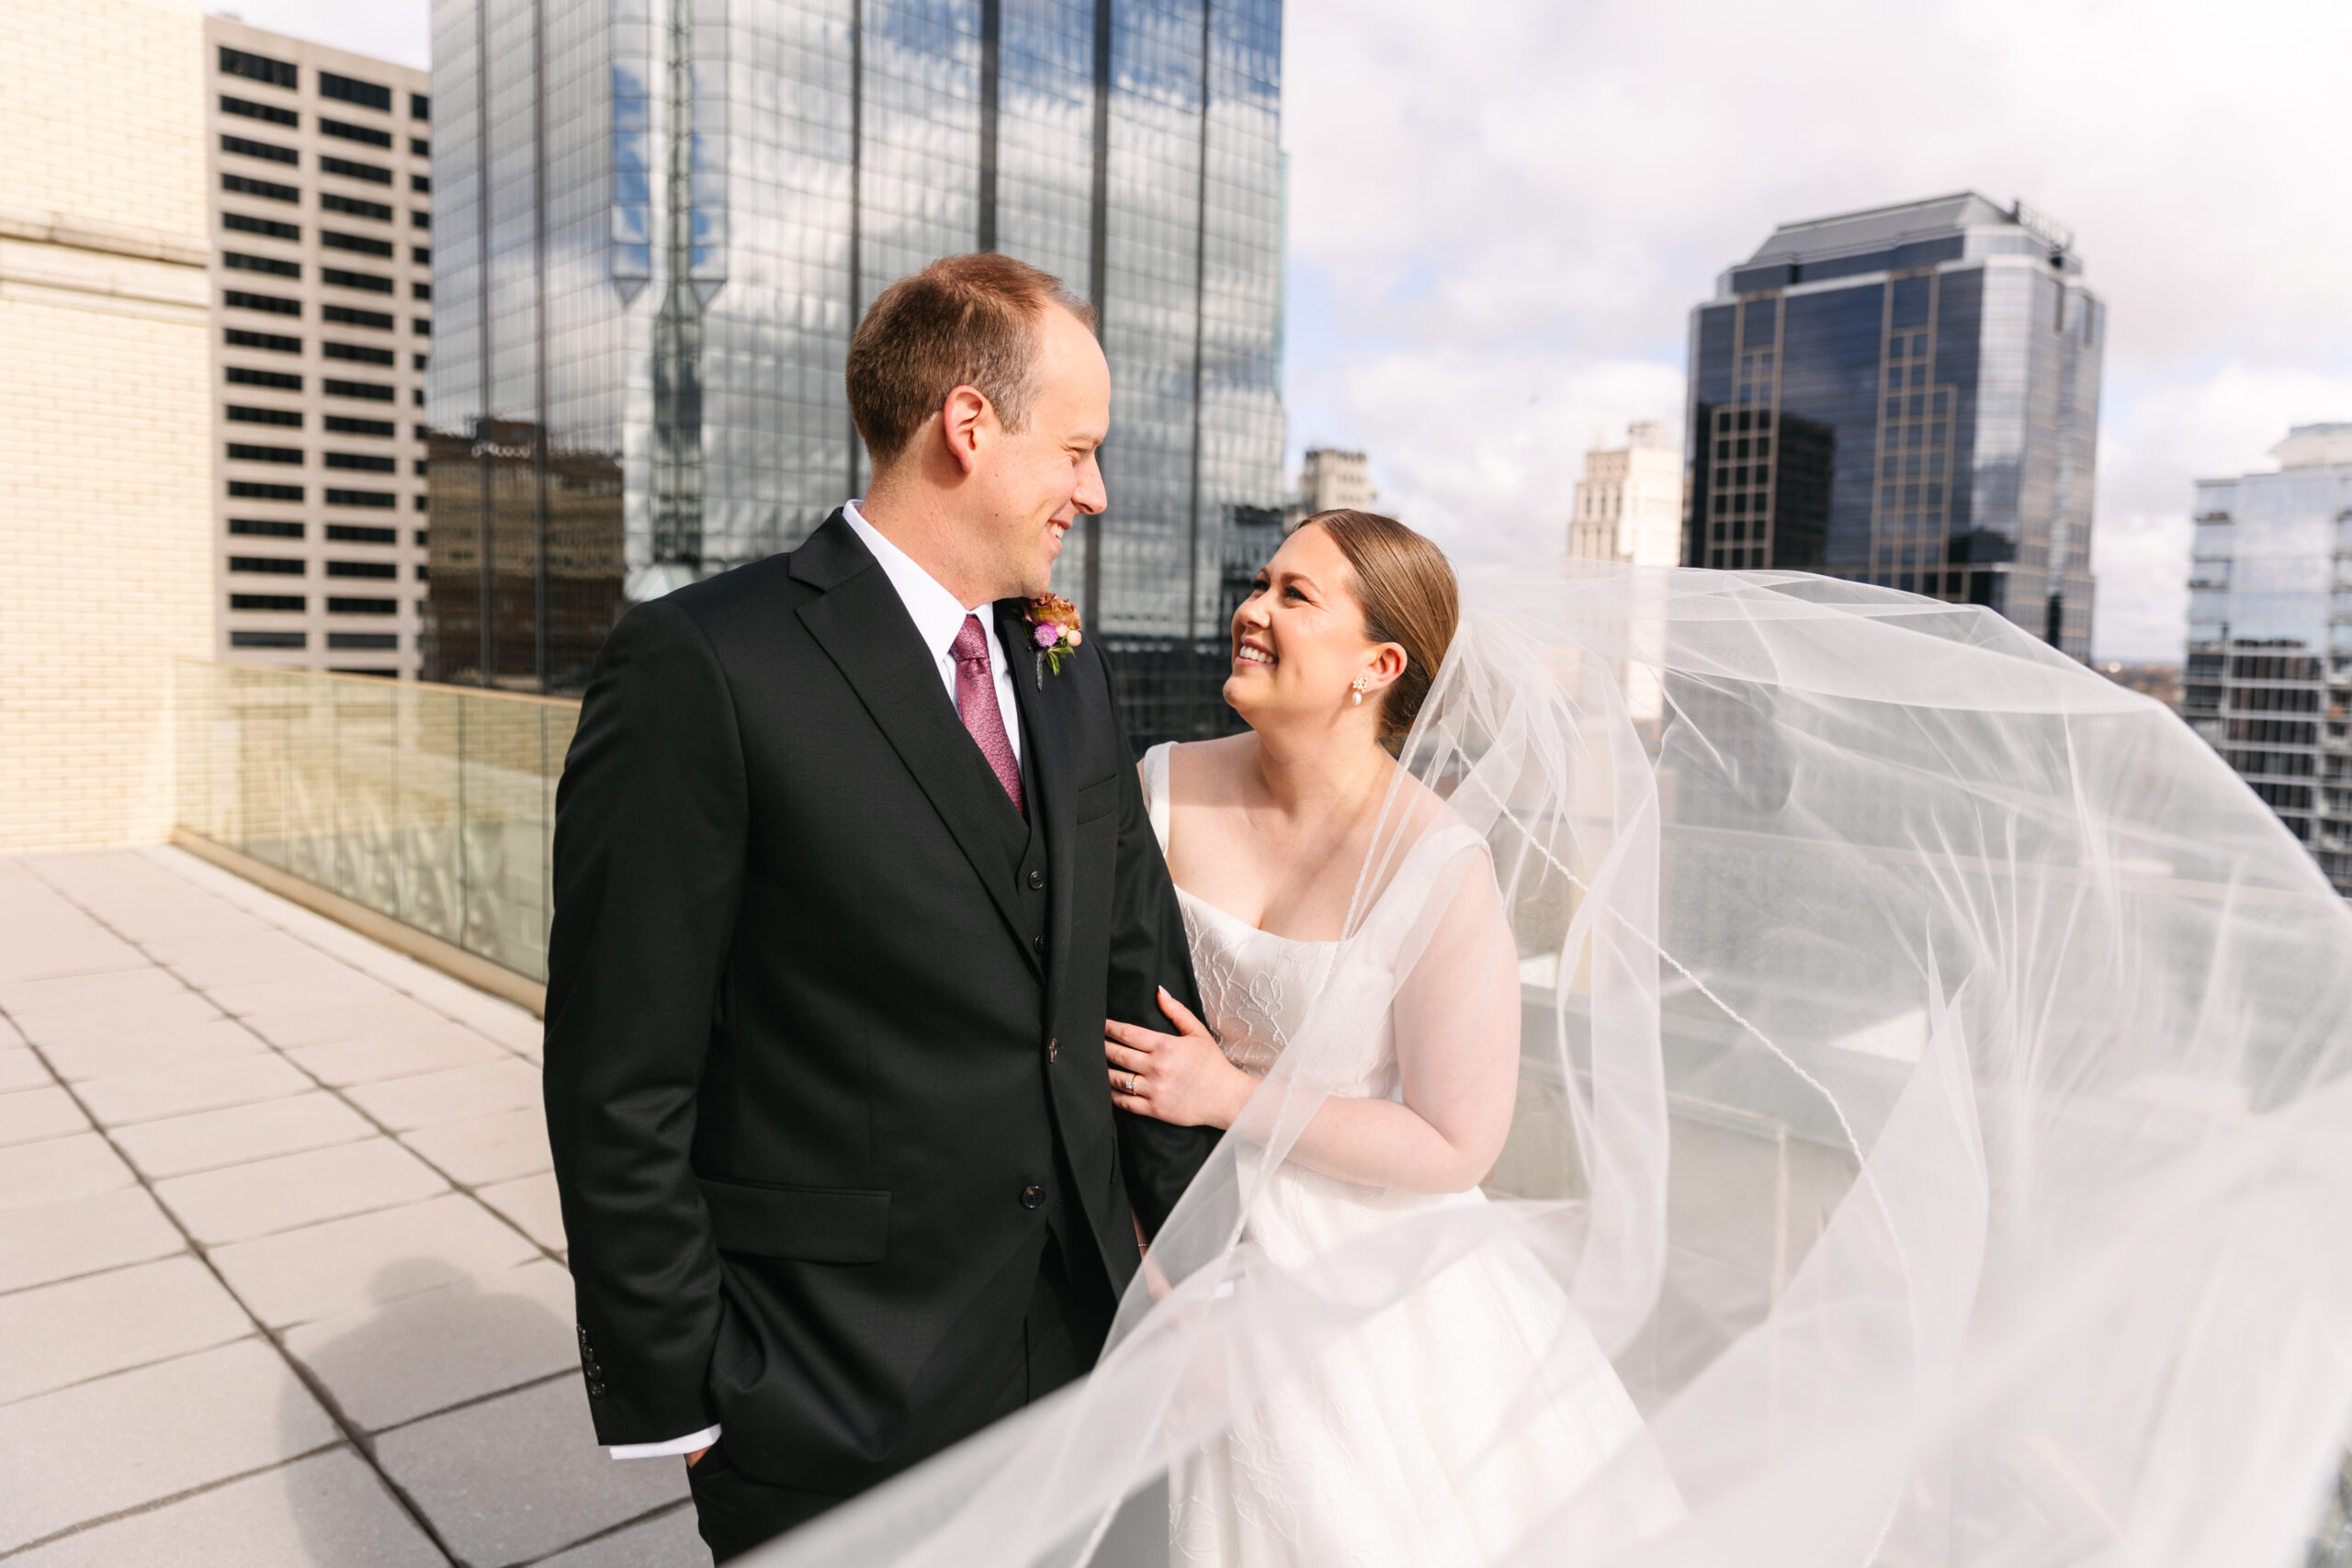
[(863, 491), (873, 296), (997, 249), (1101, 313), (1056, 590), (1136, 738), (1223, 729), (1279, 541), (1279, 0), (435, 0), (428, 675), (579, 689), (637, 602)]

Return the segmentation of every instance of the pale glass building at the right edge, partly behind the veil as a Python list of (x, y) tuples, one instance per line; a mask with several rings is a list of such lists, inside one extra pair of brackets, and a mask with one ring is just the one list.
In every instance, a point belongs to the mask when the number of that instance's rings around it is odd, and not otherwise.
[(2352, 425), (2197, 482), (2180, 712), (2352, 898)]

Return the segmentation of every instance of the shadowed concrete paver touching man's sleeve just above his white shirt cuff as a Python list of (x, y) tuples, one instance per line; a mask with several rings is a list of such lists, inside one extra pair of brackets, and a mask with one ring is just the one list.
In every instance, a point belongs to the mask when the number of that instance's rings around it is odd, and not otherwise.
[(301, 1324), (287, 1349), (367, 1432), (555, 1373), (576, 1378), (581, 1359), (572, 1276), (543, 1258)]

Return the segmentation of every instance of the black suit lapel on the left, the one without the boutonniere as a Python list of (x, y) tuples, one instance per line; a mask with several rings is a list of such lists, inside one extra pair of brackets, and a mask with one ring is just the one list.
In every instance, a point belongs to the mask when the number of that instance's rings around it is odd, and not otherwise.
[(800, 607), (800, 623), (858, 693), (866, 712), (971, 860), (988, 898), (1021, 940), (1021, 952), (1040, 966), (1023, 938), (1014, 891), (1018, 851), (1011, 844), (1021, 839), (1021, 818), (1014, 816), (1004, 785), (948, 701), (938, 668), (915, 635), (898, 590), (840, 512), (811, 534), (797, 555), (811, 559), (795, 557), (793, 576), (826, 588), (823, 597)]

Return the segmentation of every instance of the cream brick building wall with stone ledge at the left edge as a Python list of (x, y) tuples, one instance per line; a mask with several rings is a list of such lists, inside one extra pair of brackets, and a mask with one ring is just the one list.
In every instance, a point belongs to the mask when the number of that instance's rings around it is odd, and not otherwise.
[(0, 853), (162, 839), (214, 635), (202, 16), (0, 0)]

